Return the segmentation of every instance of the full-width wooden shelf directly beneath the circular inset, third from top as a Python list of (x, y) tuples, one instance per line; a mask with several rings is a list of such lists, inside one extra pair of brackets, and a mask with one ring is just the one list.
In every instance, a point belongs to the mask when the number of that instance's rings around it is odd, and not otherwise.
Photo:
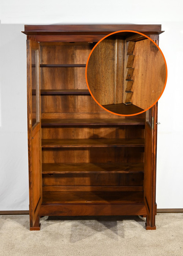
[(143, 118), (69, 118), (69, 119), (42, 119), (41, 126), (63, 126), (63, 125), (145, 125)]

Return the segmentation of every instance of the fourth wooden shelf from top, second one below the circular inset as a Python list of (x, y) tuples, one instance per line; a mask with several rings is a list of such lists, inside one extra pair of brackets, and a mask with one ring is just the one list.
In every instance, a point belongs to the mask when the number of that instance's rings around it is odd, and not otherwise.
[(144, 139), (42, 139), (42, 147), (143, 147)]

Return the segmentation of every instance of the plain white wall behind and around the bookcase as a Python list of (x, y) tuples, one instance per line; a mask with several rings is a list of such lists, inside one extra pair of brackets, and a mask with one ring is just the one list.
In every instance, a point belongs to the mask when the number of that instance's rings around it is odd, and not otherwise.
[[(0, 9), (0, 210), (28, 210), (23, 24), (162, 24), (168, 81), (158, 102), (158, 208), (183, 208), (182, 1), (4, 0)], [(51, 3), (51, 4), (50, 4)], [(17, 25), (20, 24), (20, 25)], [(175, 38), (175, 39), (174, 39)]]

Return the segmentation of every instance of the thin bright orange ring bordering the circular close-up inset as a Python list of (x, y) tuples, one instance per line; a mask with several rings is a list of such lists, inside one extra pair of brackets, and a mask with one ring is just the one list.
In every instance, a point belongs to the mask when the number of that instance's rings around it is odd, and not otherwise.
[[(116, 33), (119, 33), (119, 32), (133, 32), (133, 33), (138, 33), (138, 34), (143, 35), (143, 36), (145, 36), (146, 38), (150, 39), (150, 40), (158, 47), (158, 49), (160, 50), (160, 52), (161, 52), (161, 54), (162, 54), (162, 56), (163, 56), (163, 58), (164, 58), (165, 68), (166, 68), (165, 84), (164, 84), (163, 90), (162, 90), (160, 96), (158, 97), (158, 99), (157, 99), (150, 107), (148, 107), (147, 109), (145, 109), (145, 110), (143, 110), (143, 111), (141, 111), (141, 112), (138, 112), (138, 113), (136, 113), (136, 114), (131, 114), (131, 115), (117, 114), (117, 113), (114, 113), (114, 112), (112, 112), (112, 111), (110, 111), (110, 110), (108, 110), (108, 109), (105, 109), (105, 107), (103, 107), (103, 106), (102, 106), (99, 102), (97, 102), (97, 100), (94, 98), (94, 96), (93, 96), (93, 94), (91, 93), (91, 90), (90, 90), (90, 88), (89, 88), (88, 81), (87, 81), (87, 66), (88, 66), (88, 62), (89, 62), (91, 53), (93, 52), (93, 50), (96, 48), (96, 46), (97, 46), (102, 40), (104, 40), (104, 39), (107, 38), (108, 36), (111, 36), (111, 35), (116, 34)], [(161, 51), (160, 47), (159, 47), (159, 46), (153, 41), (153, 39), (151, 39), (149, 36), (146, 36), (145, 34), (143, 34), (143, 33), (141, 33), (141, 32), (137, 32), (137, 31), (133, 31), (133, 30), (119, 30), (119, 31), (110, 33), (110, 34), (104, 36), (102, 39), (100, 39), (100, 40), (96, 43), (96, 45), (93, 47), (93, 49), (90, 51), (90, 54), (89, 54), (89, 56), (88, 56), (88, 58), (87, 58), (87, 62), (86, 62), (86, 68), (85, 68), (85, 78), (86, 78), (87, 88), (89, 89), (89, 92), (90, 92), (90, 94), (91, 94), (91, 97), (94, 99), (94, 101), (95, 101), (100, 107), (102, 107), (102, 109), (108, 111), (109, 113), (112, 113), (112, 114), (115, 114), (115, 115), (120, 115), (120, 116), (125, 116), (125, 117), (126, 117), (126, 116), (132, 116), (132, 115), (139, 115), (139, 114), (142, 114), (142, 113), (146, 112), (147, 110), (149, 110), (151, 107), (153, 107), (153, 106), (158, 102), (158, 100), (160, 99), (161, 95), (162, 95), (163, 92), (164, 92), (165, 86), (166, 86), (166, 84), (167, 84), (167, 77), (168, 77), (167, 62), (166, 62), (166, 60), (165, 60), (165, 56), (164, 56), (163, 52)]]

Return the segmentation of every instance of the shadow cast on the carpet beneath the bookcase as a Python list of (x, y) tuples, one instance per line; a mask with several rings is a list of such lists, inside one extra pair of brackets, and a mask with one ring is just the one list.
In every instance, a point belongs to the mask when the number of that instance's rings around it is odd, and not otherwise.
[[(107, 238), (117, 240), (124, 238), (124, 220), (132, 220), (145, 228), (145, 218), (141, 216), (49, 216), (49, 221), (73, 221), (71, 224), (70, 242), (75, 243), (83, 239), (105, 234)], [(45, 226), (45, 223), (43, 224)], [(46, 225), (47, 227), (48, 225)]]

